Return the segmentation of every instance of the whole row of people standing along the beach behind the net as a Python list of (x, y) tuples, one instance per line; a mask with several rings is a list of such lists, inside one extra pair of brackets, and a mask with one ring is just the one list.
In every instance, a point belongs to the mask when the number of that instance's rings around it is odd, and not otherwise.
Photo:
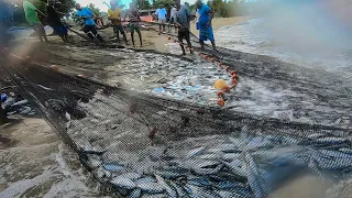
[[(15, 0), (15, 3), (19, 3), (19, 1), (22, 0)], [(123, 40), (125, 44), (128, 45), (128, 38), (124, 31), (124, 28), (122, 25), (121, 20), (121, 6), (119, 4), (119, 0), (111, 0), (110, 1), (110, 8), (108, 10), (108, 19), (111, 21), (111, 24), (113, 26), (113, 32), (117, 34), (118, 42), (120, 42), (120, 33), (123, 36)], [(47, 42), (47, 37), (45, 34), (44, 26), (38, 18), (38, 15), (47, 16), (47, 23), (50, 26), (53, 28), (54, 33), (57, 34), (64, 42), (68, 42), (67, 37), (67, 26), (63, 24), (62, 18), (67, 15), (67, 13), (62, 13), (57, 11), (55, 8), (56, 0), (48, 0), (46, 6), (46, 14), (41, 12), (38, 9), (36, 9), (30, 0), (23, 0), (23, 9), (25, 13), (25, 19), (29, 22), (29, 24), (33, 28), (33, 30), (38, 35), (38, 38), (41, 42), (43, 40)], [(205, 3), (201, 2), (201, 0), (196, 1), (196, 8), (197, 8), (197, 30), (199, 30), (199, 42), (201, 46), (205, 46), (205, 41), (209, 40), (216, 48), (212, 28), (211, 28), (211, 21), (213, 18), (212, 10)], [(84, 32), (91, 38), (97, 40), (100, 42), (105, 42), (105, 38), (98, 33), (97, 25), (95, 22), (95, 13), (89, 8), (82, 8), (79, 3), (76, 4), (76, 15), (79, 20), (84, 22)], [(191, 50), (191, 43), (190, 43), (190, 12), (186, 4), (176, 4), (169, 10), (169, 14), (167, 14), (167, 11), (163, 6), (161, 6), (156, 12), (155, 16), (157, 18), (157, 21), (160, 23), (160, 34), (163, 31), (165, 31), (166, 26), (166, 20), (168, 15), (168, 28), (170, 31), (170, 26), (174, 25), (175, 30), (178, 30), (178, 41), (180, 43), (183, 54), (185, 54), (185, 47), (183, 44), (183, 41), (186, 40), (187, 45)], [(140, 44), (142, 46), (142, 34), (140, 29), (140, 13), (136, 9), (136, 4), (131, 2), (130, 3), (130, 10), (128, 12), (128, 15), (124, 16), (124, 19), (128, 18), (129, 22), (129, 30), (131, 32), (131, 40), (134, 45), (134, 32), (138, 33), (140, 38)], [(3, 36), (2, 36), (3, 37)]]

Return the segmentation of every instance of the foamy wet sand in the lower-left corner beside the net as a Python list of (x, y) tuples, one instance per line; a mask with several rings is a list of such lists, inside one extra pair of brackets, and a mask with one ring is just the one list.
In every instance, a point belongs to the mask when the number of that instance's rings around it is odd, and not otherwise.
[[(96, 184), (43, 119), (0, 127), (0, 197), (99, 197)], [(91, 186), (88, 188), (88, 184)]]

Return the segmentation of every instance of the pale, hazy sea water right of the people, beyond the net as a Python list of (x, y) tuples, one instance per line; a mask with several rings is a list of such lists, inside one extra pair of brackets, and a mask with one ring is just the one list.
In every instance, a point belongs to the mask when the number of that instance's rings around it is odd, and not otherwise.
[(290, 32), (285, 35), (283, 29), (286, 26), (273, 24), (270, 20), (253, 19), (237, 25), (223, 26), (215, 32), (217, 44), (234, 51), (267, 55), (286, 63), (340, 74), (345, 78), (352, 77), (352, 46), (324, 43), (319, 34), (309, 35), (307, 38), (305, 30), (299, 28), (288, 30)]

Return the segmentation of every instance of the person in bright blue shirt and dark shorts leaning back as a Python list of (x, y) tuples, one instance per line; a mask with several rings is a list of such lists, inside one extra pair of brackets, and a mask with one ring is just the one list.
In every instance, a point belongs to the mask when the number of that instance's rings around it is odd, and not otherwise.
[(89, 8), (81, 8), (79, 3), (76, 3), (76, 10), (77, 10), (77, 16), (84, 20), (84, 32), (94, 41), (96, 37), (101, 43), (105, 43), (106, 41), (101, 37), (101, 35), (98, 33), (97, 25), (95, 20), (95, 13), (89, 10)]

